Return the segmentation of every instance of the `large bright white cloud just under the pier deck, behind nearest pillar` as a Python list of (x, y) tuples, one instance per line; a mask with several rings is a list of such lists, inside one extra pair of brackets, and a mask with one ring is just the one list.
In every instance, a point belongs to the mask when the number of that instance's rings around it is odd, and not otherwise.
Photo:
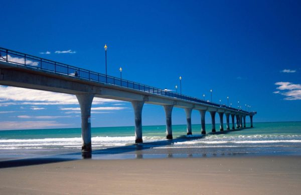
[[(30, 105), (54, 105), (54, 104), (79, 104), (75, 95), (57, 93), (36, 89), (19, 88), (0, 85), (1, 106), (30, 104)], [(9, 101), (9, 102), (8, 102)], [(13, 102), (12, 102), (13, 101)], [(114, 99), (94, 97), (92, 104), (120, 102)]]

